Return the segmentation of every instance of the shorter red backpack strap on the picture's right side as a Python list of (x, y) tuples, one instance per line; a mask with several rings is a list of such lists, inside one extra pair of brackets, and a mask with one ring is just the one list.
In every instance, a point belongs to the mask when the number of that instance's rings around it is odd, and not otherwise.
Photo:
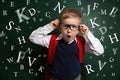
[(84, 52), (85, 52), (85, 39), (83, 36), (77, 36), (77, 45), (80, 50), (79, 52), (79, 61), (82, 64), (84, 61)]

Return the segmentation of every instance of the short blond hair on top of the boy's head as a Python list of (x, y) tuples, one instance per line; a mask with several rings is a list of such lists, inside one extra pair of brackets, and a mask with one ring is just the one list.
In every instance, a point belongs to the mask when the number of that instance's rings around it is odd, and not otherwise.
[(81, 19), (82, 16), (81, 16), (81, 13), (74, 8), (65, 8), (60, 13), (59, 20), (62, 23), (65, 19), (72, 18), (72, 17)]

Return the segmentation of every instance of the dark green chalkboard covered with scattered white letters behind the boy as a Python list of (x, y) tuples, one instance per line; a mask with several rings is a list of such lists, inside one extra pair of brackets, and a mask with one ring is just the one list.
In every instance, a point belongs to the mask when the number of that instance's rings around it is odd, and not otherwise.
[(105, 49), (85, 53), (82, 80), (120, 80), (120, 0), (0, 0), (0, 80), (43, 80), (47, 49), (28, 37), (67, 7), (82, 13)]

